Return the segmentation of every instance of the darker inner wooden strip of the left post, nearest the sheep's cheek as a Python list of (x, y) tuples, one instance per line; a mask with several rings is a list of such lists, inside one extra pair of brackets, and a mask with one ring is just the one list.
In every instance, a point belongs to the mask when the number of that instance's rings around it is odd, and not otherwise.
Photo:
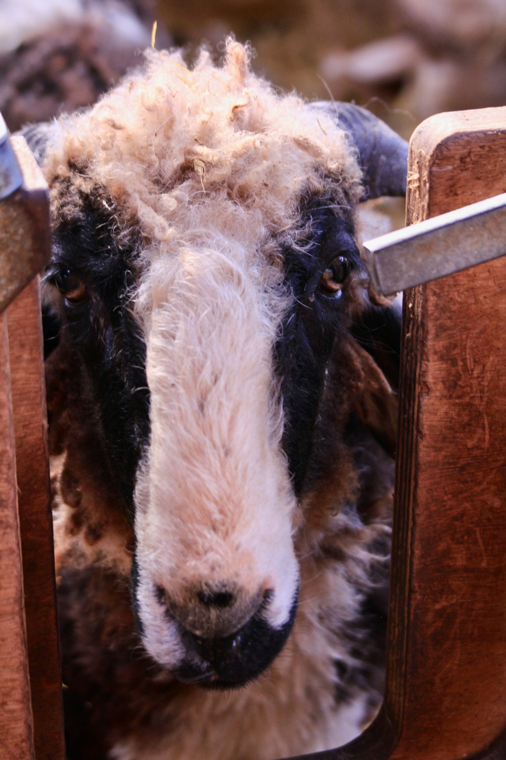
[(7, 309), (28, 660), (37, 760), (62, 760), (61, 667), (39, 278)]

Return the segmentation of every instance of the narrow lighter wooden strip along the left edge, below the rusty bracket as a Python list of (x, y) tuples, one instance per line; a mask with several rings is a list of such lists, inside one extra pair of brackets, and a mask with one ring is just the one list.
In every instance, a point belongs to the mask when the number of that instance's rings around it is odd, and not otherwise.
[(33, 729), (17, 518), (11, 375), (0, 315), (0, 758), (33, 760)]

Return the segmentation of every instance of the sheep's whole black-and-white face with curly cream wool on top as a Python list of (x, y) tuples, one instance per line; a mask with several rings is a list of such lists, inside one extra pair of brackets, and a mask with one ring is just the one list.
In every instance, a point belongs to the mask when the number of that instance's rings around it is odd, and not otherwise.
[(74, 473), (83, 543), (119, 562), (86, 538), (107, 505), (151, 657), (242, 686), (291, 631), (301, 526), (321, 530), (357, 487), (360, 170), (341, 128), (276, 96), (235, 43), (192, 72), (152, 53), (56, 131), (49, 378), (64, 366), (86, 442), (68, 442), (61, 500)]

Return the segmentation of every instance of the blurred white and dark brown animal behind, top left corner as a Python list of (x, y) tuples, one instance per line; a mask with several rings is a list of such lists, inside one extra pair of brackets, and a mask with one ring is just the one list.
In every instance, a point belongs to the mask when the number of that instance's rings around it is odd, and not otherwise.
[[(149, 0), (1, 0), (0, 111), (11, 131), (95, 103), (151, 42)], [(160, 37), (168, 43), (162, 28)]]

